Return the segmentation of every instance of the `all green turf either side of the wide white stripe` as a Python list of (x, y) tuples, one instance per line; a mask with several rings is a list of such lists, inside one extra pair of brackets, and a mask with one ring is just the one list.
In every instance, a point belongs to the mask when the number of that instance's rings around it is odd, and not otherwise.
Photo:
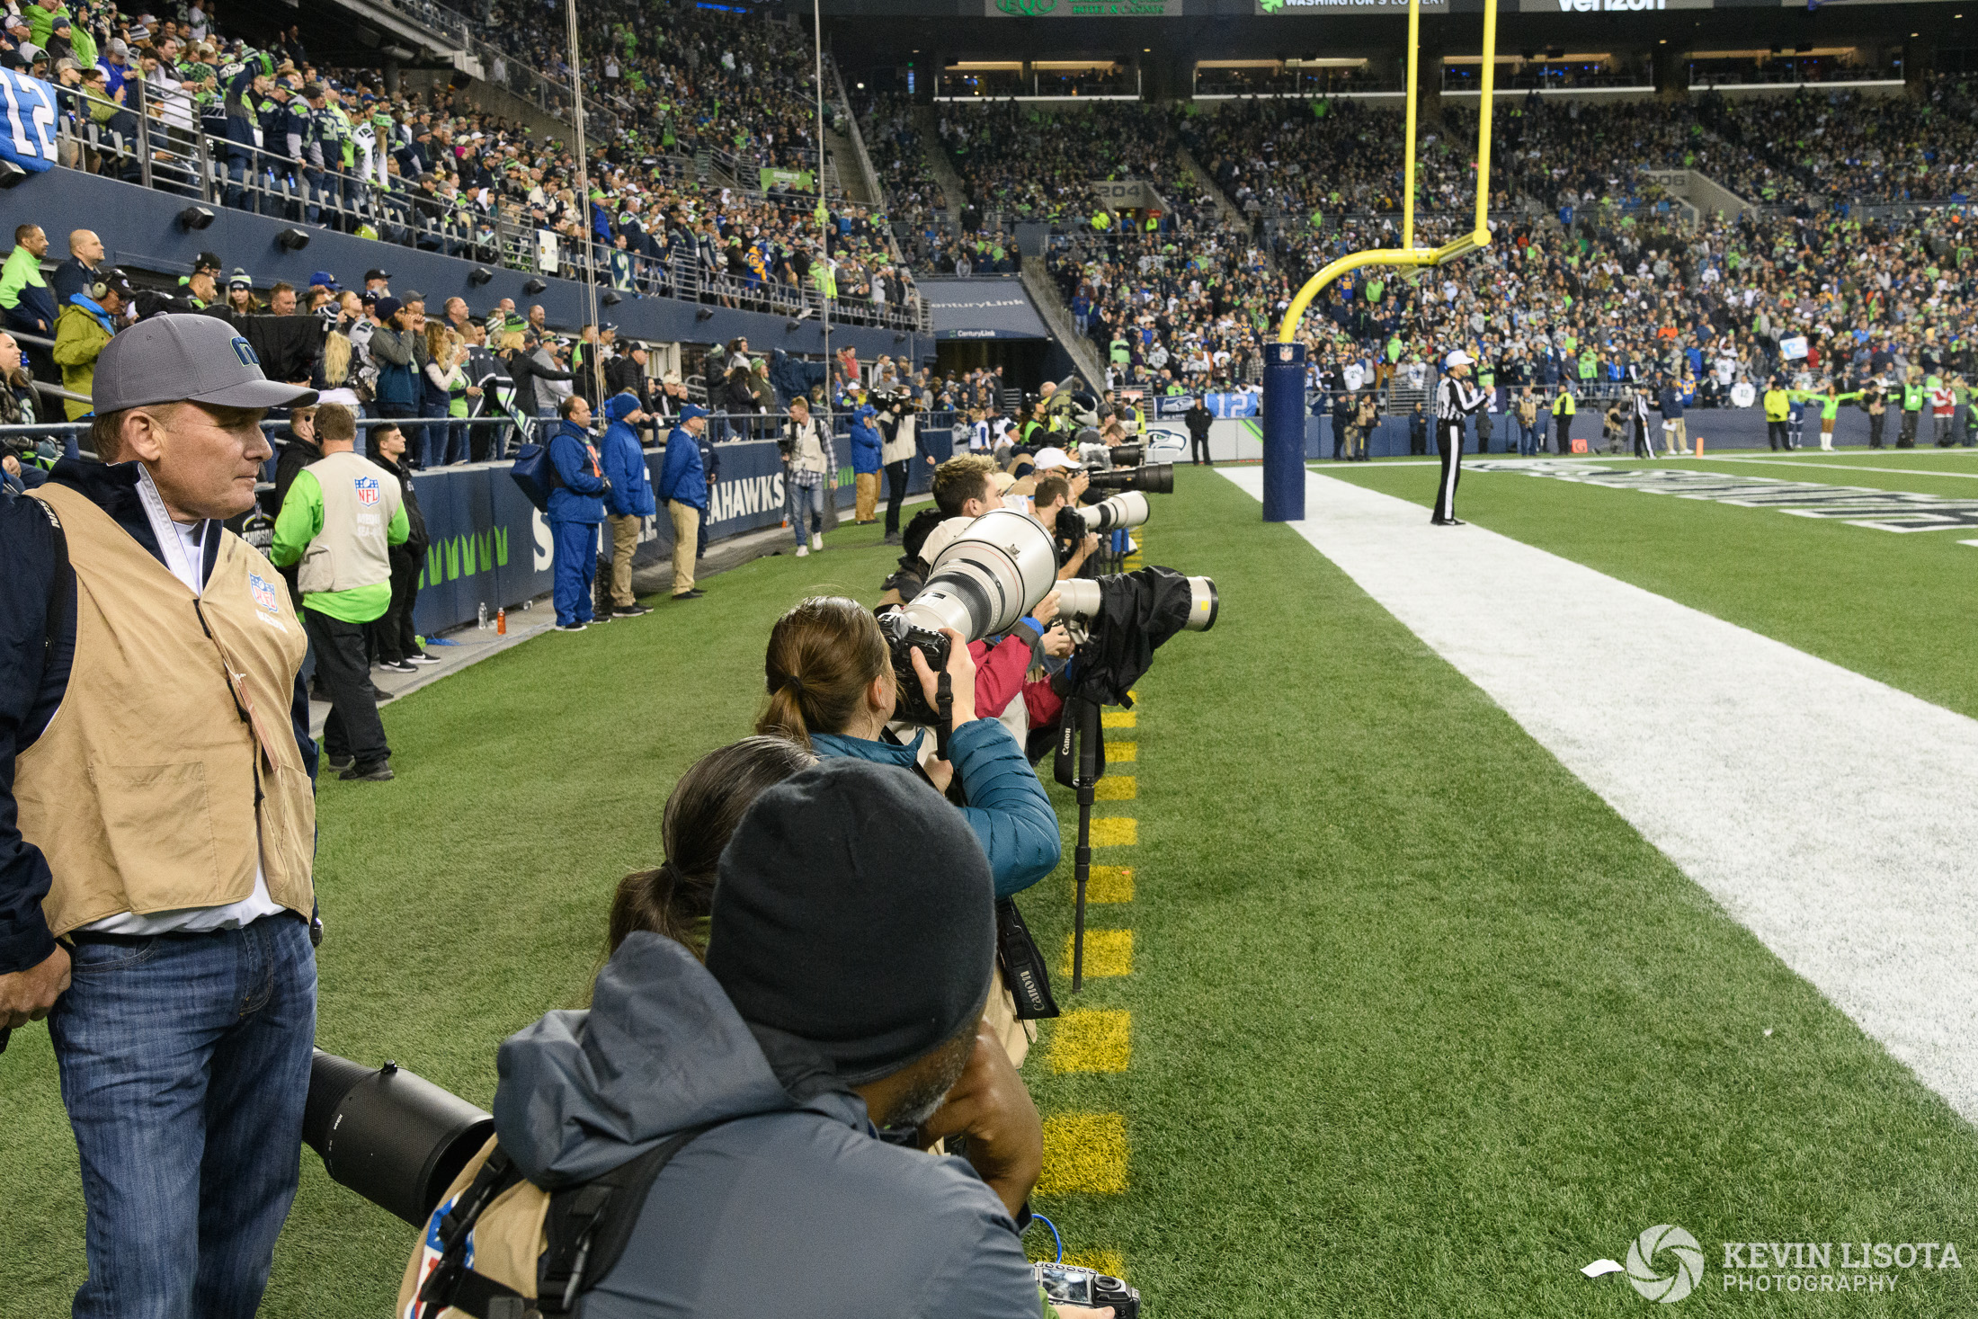
[[(1353, 479), (1432, 488), (1432, 469)], [(1877, 633), (1849, 621), (1877, 589), (1905, 599), (1873, 615), (1903, 645), (1851, 666), (1934, 674), (1933, 698), (1978, 708), (1954, 639), (1929, 635), (1968, 617), (1948, 577), (1978, 554), (1942, 534), (1529, 477), (1464, 496), (1480, 524), (1808, 649)], [(1499, 708), (1220, 477), (1179, 471), (1155, 518), (1147, 558), (1214, 575), (1222, 613), (1159, 653), (1135, 726), (1110, 734), (1133, 742), (1112, 779), (1133, 795), (1100, 815), (1135, 821), (1135, 842), (1098, 860), (1133, 880), (1092, 908), (1094, 951), (1129, 931), (1129, 971), (1058, 997), (1125, 1016), (1046, 1024), (1025, 1068), (1076, 1137), (1046, 1185), (1092, 1187), (1038, 1196), (1068, 1250), (1122, 1260), (1149, 1317), (1580, 1319), (1654, 1309), (1578, 1268), (1662, 1222), (1707, 1250), (1978, 1242), (1970, 1125)], [(837, 532), (823, 558), (752, 564), (694, 605), (544, 637), (394, 704), (400, 779), (322, 791), (322, 1046), (487, 1103), (496, 1042), (582, 1003), (613, 882), (659, 860), (674, 775), (748, 730), (769, 621), (819, 587), (872, 599), (892, 558), (874, 540)], [(1052, 957), (1068, 870), (1023, 902)], [(1118, 872), (1106, 896), (1125, 896)], [(12, 1313), (65, 1313), (81, 1204), (42, 1028), (16, 1034), (0, 1086), (0, 1287)], [(384, 1315), (411, 1236), (305, 1153), (265, 1313)], [(1715, 1277), (1685, 1313), (1978, 1309), (1962, 1270), (1873, 1297)]]

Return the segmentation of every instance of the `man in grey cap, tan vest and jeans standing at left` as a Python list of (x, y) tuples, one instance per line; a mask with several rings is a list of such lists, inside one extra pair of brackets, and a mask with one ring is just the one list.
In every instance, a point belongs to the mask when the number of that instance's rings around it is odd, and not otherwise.
[(295, 1198), (307, 641), (222, 520), (253, 506), (267, 409), (315, 397), (224, 320), (144, 320), (97, 362), (103, 463), (0, 508), (0, 1030), (47, 1016), (87, 1208), (75, 1315), (247, 1319)]

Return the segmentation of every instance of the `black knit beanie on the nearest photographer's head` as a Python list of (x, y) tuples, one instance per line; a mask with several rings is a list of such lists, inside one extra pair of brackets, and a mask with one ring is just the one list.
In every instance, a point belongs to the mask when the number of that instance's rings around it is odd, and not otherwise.
[(827, 759), (758, 797), (722, 850), (708, 971), (847, 1084), (953, 1038), (993, 965), (989, 858), (908, 769)]

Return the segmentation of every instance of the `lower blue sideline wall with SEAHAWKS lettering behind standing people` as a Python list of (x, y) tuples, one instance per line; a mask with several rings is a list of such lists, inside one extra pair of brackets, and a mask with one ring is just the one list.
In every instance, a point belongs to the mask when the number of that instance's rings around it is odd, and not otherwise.
[[(945, 435), (942, 435), (945, 439)], [(845, 437), (837, 441), (847, 453)], [(645, 455), (653, 484), (659, 484), (663, 449)], [(708, 492), (708, 540), (777, 526), (783, 520), (783, 461), (773, 441), (716, 445), (720, 481)], [(421, 635), (473, 623), (481, 605), (489, 617), (514, 609), (550, 589), (550, 524), (536, 512), (508, 475), (508, 463), (443, 467), (413, 475), (419, 510), (425, 514), (429, 546), (419, 577), (413, 623)], [(922, 494), (934, 469), (910, 465), (908, 490)], [(837, 506), (853, 504), (853, 471), (839, 471)], [(795, 542), (791, 542), (795, 544)], [(611, 528), (599, 524), (599, 550), (609, 556)], [(647, 524), (635, 564), (673, 558), (673, 522), (665, 504)], [(872, 583), (878, 591), (878, 581)]]

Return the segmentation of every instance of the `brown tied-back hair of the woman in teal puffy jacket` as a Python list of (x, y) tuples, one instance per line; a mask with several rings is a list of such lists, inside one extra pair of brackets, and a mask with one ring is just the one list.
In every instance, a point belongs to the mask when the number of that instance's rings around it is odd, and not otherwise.
[(864, 710), (864, 692), (892, 670), (878, 619), (854, 599), (813, 595), (769, 629), (762, 662), (769, 708), (758, 734), (811, 744), (811, 734), (839, 734)]

